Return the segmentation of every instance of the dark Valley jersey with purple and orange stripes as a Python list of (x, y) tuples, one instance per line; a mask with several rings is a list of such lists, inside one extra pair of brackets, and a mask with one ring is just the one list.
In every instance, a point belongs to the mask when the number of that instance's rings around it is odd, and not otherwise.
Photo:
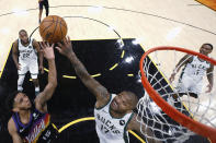
[(49, 143), (57, 138), (58, 131), (50, 123), (49, 114), (42, 114), (34, 108), (29, 123), (23, 124), (18, 112), (12, 119), (24, 143)]

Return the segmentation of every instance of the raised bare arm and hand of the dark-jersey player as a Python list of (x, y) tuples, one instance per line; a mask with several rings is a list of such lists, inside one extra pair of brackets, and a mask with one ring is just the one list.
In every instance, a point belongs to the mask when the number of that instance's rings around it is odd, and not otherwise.
[(55, 64), (55, 55), (54, 55), (54, 45), (49, 46), (49, 44), (42, 43), (42, 48), (44, 52), (44, 57), (48, 61), (48, 83), (44, 91), (39, 93), (35, 98), (35, 106), (42, 112), (47, 112), (46, 102), (52, 98), (55, 88), (57, 86), (57, 73), (56, 73), (56, 64)]

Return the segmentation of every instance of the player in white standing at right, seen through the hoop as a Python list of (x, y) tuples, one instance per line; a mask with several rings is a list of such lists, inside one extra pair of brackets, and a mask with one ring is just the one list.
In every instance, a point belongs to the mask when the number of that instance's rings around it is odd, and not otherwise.
[[(200, 53), (208, 56), (213, 51), (213, 45), (203, 44)], [(203, 87), (203, 78), (206, 75), (208, 80), (207, 93), (213, 88), (213, 70), (214, 65), (198, 58), (197, 56), (185, 55), (175, 65), (175, 70), (171, 74), (170, 82), (174, 80), (177, 72), (183, 67), (182, 73), (177, 86), (180, 96), (189, 93), (190, 96), (197, 98)]]

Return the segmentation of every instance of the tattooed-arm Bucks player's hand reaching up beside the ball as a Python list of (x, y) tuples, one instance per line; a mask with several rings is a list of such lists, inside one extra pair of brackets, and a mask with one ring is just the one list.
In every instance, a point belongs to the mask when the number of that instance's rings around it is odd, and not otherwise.
[(67, 36), (66, 38), (64, 38), (62, 44), (58, 43), (58, 47), (56, 47), (56, 49), (64, 56), (66, 57), (70, 57), (71, 53), (73, 53), (72, 50), (72, 45), (70, 41), (70, 37)]

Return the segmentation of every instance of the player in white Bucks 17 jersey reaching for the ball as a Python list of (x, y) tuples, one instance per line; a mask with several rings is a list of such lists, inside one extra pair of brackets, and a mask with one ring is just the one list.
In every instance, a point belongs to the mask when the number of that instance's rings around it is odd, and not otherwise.
[[(136, 120), (133, 109), (137, 105), (137, 96), (132, 92), (110, 94), (107, 90), (94, 80), (87, 71), (72, 50), (70, 38), (64, 39), (64, 45), (58, 44), (58, 51), (66, 56), (72, 63), (76, 73), (89, 91), (95, 96), (94, 108), (95, 128), (101, 143), (128, 143), (128, 130), (140, 133), (140, 123)], [(150, 129), (141, 127), (148, 136), (152, 136)], [(149, 142), (158, 142), (147, 139)]]

